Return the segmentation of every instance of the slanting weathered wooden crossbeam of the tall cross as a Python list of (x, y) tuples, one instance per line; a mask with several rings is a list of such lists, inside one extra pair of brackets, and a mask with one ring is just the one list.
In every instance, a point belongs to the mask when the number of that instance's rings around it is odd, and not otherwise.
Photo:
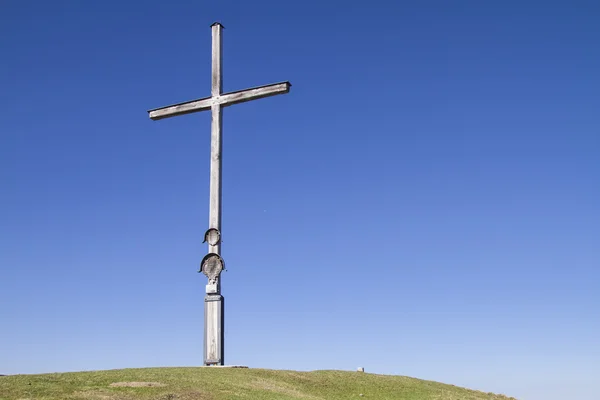
[(272, 85), (259, 86), (252, 89), (224, 93), (220, 96), (206, 97), (204, 99), (156, 108), (154, 110), (149, 110), (148, 114), (152, 120), (176, 117), (178, 115), (210, 110), (213, 105), (217, 104), (226, 107), (250, 100), (261, 99), (263, 97), (288, 93), (291, 86), (292, 85), (289, 82), (274, 83)]

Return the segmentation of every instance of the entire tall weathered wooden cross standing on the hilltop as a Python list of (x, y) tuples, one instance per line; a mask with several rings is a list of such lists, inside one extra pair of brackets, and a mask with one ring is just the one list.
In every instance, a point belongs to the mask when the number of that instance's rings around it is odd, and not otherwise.
[(211, 96), (199, 100), (156, 108), (148, 111), (152, 120), (175, 117), (198, 111), (211, 110), (210, 142), (210, 209), (209, 229), (205, 234), (208, 254), (202, 261), (201, 270), (209, 277), (204, 301), (204, 365), (224, 365), (224, 298), (221, 295), (221, 148), (223, 146), (223, 107), (285, 94), (290, 91), (289, 82), (259, 86), (237, 92), (223, 93), (222, 35), (223, 25), (215, 22), (212, 28), (212, 90)]

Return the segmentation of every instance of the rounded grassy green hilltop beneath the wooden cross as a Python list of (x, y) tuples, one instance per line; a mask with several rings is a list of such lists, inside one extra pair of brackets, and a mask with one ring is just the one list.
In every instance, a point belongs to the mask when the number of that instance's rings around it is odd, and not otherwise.
[[(154, 386), (114, 385), (123, 382), (128, 385), (134, 385), (131, 382), (151, 382)], [(508, 400), (512, 398), (404, 376), (360, 372), (144, 368), (0, 376), (0, 399)]]

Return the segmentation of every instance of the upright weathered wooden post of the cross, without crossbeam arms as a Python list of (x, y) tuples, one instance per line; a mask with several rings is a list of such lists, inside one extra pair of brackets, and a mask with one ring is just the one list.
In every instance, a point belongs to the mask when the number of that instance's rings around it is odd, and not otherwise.
[[(223, 93), (222, 31), (223, 25), (212, 24), (212, 85), (211, 97), (218, 99)], [(221, 255), (221, 172), (223, 147), (223, 107), (219, 102), (211, 105), (210, 140), (210, 203), (209, 229), (218, 232), (219, 240), (209, 241), (208, 252)], [(221, 277), (214, 284), (206, 285), (204, 298), (204, 365), (224, 365), (225, 362), (225, 319), (224, 298), (221, 295)]]

